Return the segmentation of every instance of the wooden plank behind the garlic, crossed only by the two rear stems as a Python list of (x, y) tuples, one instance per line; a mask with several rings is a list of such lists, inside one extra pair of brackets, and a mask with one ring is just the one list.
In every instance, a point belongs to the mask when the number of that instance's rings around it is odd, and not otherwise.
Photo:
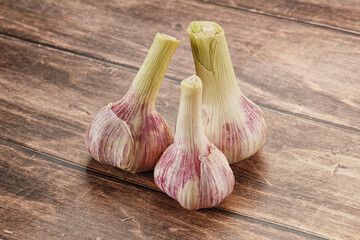
[(358, 36), (192, 1), (6, 1), (0, 16), (5, 34), (131, 68), (165, 32), (182, 41), (168, 70), (178, 80), (194, 73), (186, 26), (211, 16), (226, 31), (247, 96), (360, 131)]

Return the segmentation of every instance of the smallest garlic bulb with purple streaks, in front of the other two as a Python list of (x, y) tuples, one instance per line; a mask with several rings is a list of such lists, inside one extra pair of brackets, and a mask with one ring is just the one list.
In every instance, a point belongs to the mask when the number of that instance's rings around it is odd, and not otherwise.
[(225, 155), (204, 134), (201, 122), (202, 83), (191, 76), (181, 82), (174, 143), (154, 170), (157, 186), (190, 210), (219, 204), (234, 187)]

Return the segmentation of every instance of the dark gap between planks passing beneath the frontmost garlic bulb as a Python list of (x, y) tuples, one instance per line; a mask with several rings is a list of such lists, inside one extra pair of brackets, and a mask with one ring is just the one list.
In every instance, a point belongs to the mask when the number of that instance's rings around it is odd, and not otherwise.
[[(149, 187), (147, 185), (144, 184), (140, 184), (138, 182), (135, 181), (129, 181), (129, 180), (125, 180), (125, 179), (121, 179), (118, 178), (116, 176), (113, 176), (111, 174), (107, 174), (105, 172), (99, 171), (97, 169), (91, 168), (91, 167), (85, 167), (81, 164), (77, 164), (74, 162), (71, 162), (65, 158), (61, 158), (61, 157), (56, 157), (53, 156), (51, 154), (45, 153), (45, 152), (41, 152), (38, 151), (32, 147), (26, 146), (22, 143), (16, 142), (14, 140), (11, 139), (5, 139), (0, 137), (0, 142), (3, 145), (6, 146), (10, 146), (10, 147), (16, 147), (16, 148), (20, 148), (21, 151), (23, 152), (27, 152), (30, 153), (31, 155), (35, 155), (39, 158), (41, 158), (42, 160), (66, 167), (66, 168), (70, 168), (72, 170), (78, 171), (80, 173), (83, 174), (88, 174), (100, 179), (104, 179), (104, 180), (108, 180), (111, 182), (115, 182), (115, 183), (120, 183), (120, 184), (124, 184), (124, 185), (128, 185), (128, 186), (134, 186), (136, 188), (140, 188), (140, 189), (148, 189), (151, 190), (153, 192), (157, 192), (157, 193), (161, 193), (164, 194), (163, 192), (154, 189), (152, 187)], [(292, 226), (287, 226), (281, 223), (277, 223), (277, 222), (273, 222), (273, 221), (268, 221), (268, 220), (264, 220), (264, 219), (259, 219), (256, 217), (252, 217), (252, 216), (248, 216), (248, 215), (244, 215), (244, 214), (240, 214), (240, 213), (236, 213), (236, 212), (232, 212), (229, 211), (227, 209), (224, 209), (222, 207), (214, 207), (211, 209), (207, 209), (207, 211), (214, 211), (217, 212), (219, 214), (223, 214), (223, 215), (227, 215), (227, 216), (231, 216), (231, 217), (235, 217), (235, 218), (239, 218), (239, 219), (243, 219), (249, 222), (253, 222), (259, 225), (267, 225), (276, 229), (279, 229), (281, 231), (284, 232), (290, 232), (293, 234), (297, 234), (299, 236), (305, 237), (305, 238), (311, 238), (311, 239), (318, 239), (318, 240), (329, 240), (329, 238), (327, 238), (326, 236), (322, 236), (313, 232), (309, 232), (309, 231), (304, 231), (302, 229), (297, 229), (296, 227), (292, 227)]]

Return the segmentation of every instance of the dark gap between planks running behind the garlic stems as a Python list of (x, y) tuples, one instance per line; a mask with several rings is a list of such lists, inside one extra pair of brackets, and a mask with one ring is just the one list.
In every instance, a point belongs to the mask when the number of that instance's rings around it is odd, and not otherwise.
[[(53, 50), (55, 49), (55, 50), (58, 50), (58, 51), (61, 51), (61, 52), (70, 53), (70, 54), (73, 54), (73, 55), (76, 55), (76, 56), (81, 56), (81, 57), (84, 57), (84, 58), (87, 58), (87, 59), (92, 59), (92, 60), (99, 61), (99, 62), (102, 62), (102, 63), (108, 63), (108, 64), (120, 66), (120, 67), (131, 69), (131, 70), (134, 70), (134, 71), (139, 70), (139, 67), (136, 67), (136, 66), (133, 66), (133, 65), (114, 62), (114, 61), (111, 61), (111, 60), (107, 60), (107, 59), (104, 59), (104, 58), (93, 56), (93, 55), (88, 54), (88, 53), (77, 52), (77, 51), (74, 51), (74, 50), (69, 50), (67, 48), (58, 47), (58, 46), (48, 44), (48, 43), (41, 43), (41, 42), (38, 42), (38, 41), (35, 41), (35, 40), (31, 40), (31, 39), (24, 38), (24, 37), (19, 37), (19, 36), (13, 35), (13, 34), (0, 32), (0, 35), (6, 36), (6, 37), (9, 37), (9, 38), (13, 38), (13, 39), (17, 39), (17, 40), (21, 40), (21, 41), (24, 41), (24, 42), (28, 42), (28, 43), (31, 43), (31, 44), (35, 44), (38, 47), (47, 47), (47, 48), (50, 48), (50, 49), (53, 49)], [(176, 77), (172, 77), (172, 76), (168, 76), (168, 75), (165, 75), (164, 78), (166, 78), (168, 80), (171, 80), (171, 81), (175, 81), (177, 83), (180, 83), (182, 81), (182, 79), (178, 79)], [(331, 122), (331, 121), (323, 120), (321, 118), (311, 117), (311, 116), (308, 116), (308, 115), (302, 114), (302, 113), (291, 112), (291, 111), (288, 111), (288, 110), (285, 110), (285, 109), (280, 109), (280, 108), (274, 107), (272, 105), (264, 104), (264, 103), (257, 102), (257, 101), (254, 101), (254, 102), (257, 105), (259, 105), (260, 107), (267, 108), (267, 109), (275, 111), (275, 112), (281, 112), (281, 113), (291, 115), (291, 116), (294, 116), (294, 117), (306, 119), (308, 121), (321, 123), (321, 124), (332, 126), (332, 127), (337, 127), (337, 128), (342, 129), (342, 130), (348, 130), (348, 131), (351, 131), (351, 132), (354, 132), (354, 133), (357, 133), (357, 134), (360, 133), (360, 129), (355, 128), (355, 127), (334, 123), (334, 122)]]

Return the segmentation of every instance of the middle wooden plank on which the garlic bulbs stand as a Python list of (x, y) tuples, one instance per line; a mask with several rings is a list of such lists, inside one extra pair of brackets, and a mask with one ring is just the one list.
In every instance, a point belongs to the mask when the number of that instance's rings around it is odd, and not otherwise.
[[(22, 41), (0, 43), (1, 138), (156, 189), (151, 171), (101, 165), (83, 143), (94, 114), (125, 94), (135, 71)], [(178, 85), (165, 79), (157, 100), (172, 127)], [(359, 235), (360, 135), (273, 110), (265, 114), (268, 141), (232, 166), (236, 187), (220, 208), (330, 238)]]

